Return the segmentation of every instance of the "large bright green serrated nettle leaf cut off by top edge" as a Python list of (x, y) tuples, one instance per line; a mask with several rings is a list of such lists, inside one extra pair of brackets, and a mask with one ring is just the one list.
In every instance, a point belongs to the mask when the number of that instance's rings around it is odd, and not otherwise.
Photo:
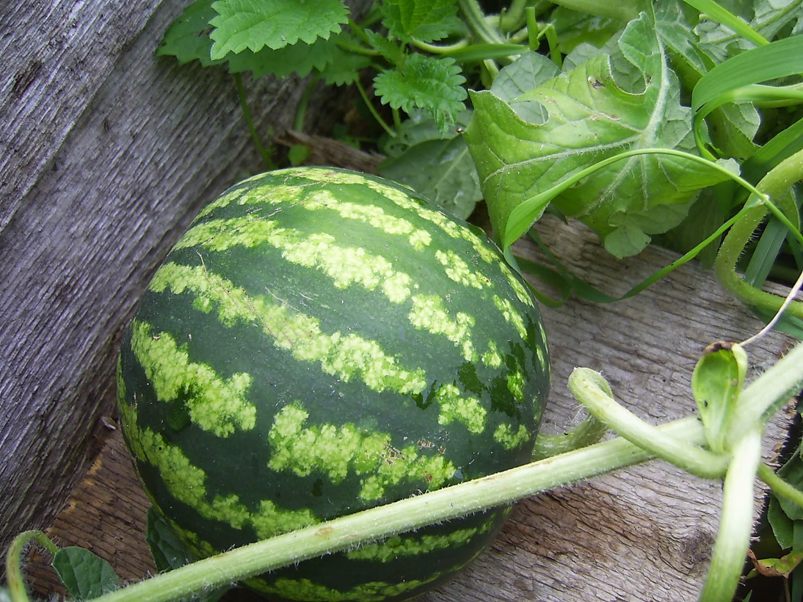
[(246, 49), (279, 50), (299, 40), (312, 44), (328, 39), (349, 20), (349, 9), (340, 0), (218, 0), (212, 8), (218, 13), (210, 21), (215, 27), (210, 34), (213, 60)]

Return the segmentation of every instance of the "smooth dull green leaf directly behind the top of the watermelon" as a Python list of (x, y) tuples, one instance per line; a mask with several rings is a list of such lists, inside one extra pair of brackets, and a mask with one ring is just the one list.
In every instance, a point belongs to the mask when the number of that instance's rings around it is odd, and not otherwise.
[(483, 197), (474, 161), (461, 136), (470, 121), (471, 112), (463, 112), (454, 127), (442, 134), (431, 116), (414, 112), (387, 148), (390, 156), (378, 165), (379, 175), (410, 186), (450, 214), (467, 218)]

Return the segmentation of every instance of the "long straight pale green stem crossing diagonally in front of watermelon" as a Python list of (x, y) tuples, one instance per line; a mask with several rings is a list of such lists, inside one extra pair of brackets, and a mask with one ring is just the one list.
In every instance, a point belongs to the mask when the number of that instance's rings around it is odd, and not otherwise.
[[(660, 430), (689, 444), (699, 445), (705, 441), (702, 425), (695, 418), (667, 423)], [(230, 584), (328, 552), (503, 506), (650, 458), (644, 449), (617, 437), (486, 478), (252, 543), (108, 593), (94, 602), (174, 600), (189, 592)]]

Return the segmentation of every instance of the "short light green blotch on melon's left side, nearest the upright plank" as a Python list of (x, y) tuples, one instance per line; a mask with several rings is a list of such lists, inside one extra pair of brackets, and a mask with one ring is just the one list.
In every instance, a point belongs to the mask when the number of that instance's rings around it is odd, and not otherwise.
[(131, 349), (145, 370), (159, 401), (181, 396), (190, 421), (198, 428), (228, 437), (235, 428), (251, 430), (256, 408), (246, 399), (251, 375), (238, 372), (224, 380), (210, 366), (190, 361), (190, 354), (167, 332), (135, 319), (131, 325)]

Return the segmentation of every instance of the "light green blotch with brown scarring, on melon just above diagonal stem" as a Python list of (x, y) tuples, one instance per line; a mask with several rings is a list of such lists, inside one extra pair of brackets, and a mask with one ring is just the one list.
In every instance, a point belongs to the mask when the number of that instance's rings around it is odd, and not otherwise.
[(309, 413), (300, 402), (276, 414), (268, 440), (272, 470), (291, 470), (300, 477), (325, 474), (339, 483), (349, 474), (368, 475), (358, 494), (376, 500), (387, 486), (425, 481), (431, 488), (443, 486), (454, 476), (451, 462), (441, 456), (418, 454), (415, 445), (395, 449), (388, 433), (370, 432), (353, 424), (307, 425)]

